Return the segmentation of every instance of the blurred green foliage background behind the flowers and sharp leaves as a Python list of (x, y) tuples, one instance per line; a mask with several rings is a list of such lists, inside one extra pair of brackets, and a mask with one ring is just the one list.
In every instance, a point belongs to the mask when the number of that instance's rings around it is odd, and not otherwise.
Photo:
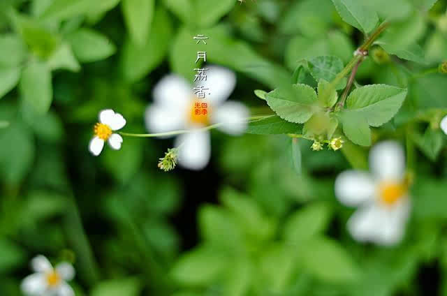
[[(409, 88), (373, 132), (402, 140), (409, 112), (447, 108), (447, 76), (411, 76), (447, 59), (447, 1), (369, 2), (398, 16), (388, 38), (419, 43), (427, 62), (372, 54), (358, 73)], [(210, 63), (237, 73), (231, 98), (252, 114), (270, 112), (254, 89), (291, 80), (301, 59), (346, 63), (363, 38), (330, 0), (0, 0), (0, 295), (21, 295), (37, 254), (74, 263), (77, 296), (447, 295), (447, 136), (431, 117), (413, 126), (413, 210), (389, 248), (346, 232), (353, 209), (334, 179), (351, 168), (344, 154), (367, 154), (349, 143), (317, 153), (300, 140), (300, 173), (285, 135), (213, 131), (200, 172), (157, 169), (171, 140), (89, 154), (99, 110), (145, 132), (156, 82), (191, 80), (197, 34)]]

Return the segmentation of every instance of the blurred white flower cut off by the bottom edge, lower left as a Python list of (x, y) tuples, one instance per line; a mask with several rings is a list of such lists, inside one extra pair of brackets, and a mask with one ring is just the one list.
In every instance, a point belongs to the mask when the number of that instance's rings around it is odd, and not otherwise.
[(22, 281), (22, 292), (28, 296), (74, 296), (71, 286), (66, 283), (75, 276), (73, 265), (62, 262), (52, 267), (45, 256), (31, 260), (35, 272)]

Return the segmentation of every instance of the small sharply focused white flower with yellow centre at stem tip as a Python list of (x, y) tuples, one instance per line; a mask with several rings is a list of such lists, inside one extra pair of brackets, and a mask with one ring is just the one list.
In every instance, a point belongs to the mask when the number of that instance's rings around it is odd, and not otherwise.
[(126, 119), (122, 114), (115, 113), (111, 109), (99, 112), (99, 122), (94, 126), (94, 138), (91, 139), (89, 150), (94, 156), (103, 151), (104, 142), (108, 141), (110, 147), (115, 150), (121, 149), (123, 138), (114, 131), (118, 131), (126, 125)]

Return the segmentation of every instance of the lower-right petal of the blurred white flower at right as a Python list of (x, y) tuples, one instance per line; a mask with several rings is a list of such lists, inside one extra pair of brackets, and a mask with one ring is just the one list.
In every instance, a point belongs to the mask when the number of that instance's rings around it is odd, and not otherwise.
[(385, 209), (383, 230), (377, 234), (376, 242), (384, 246), (393, 246), (402, 241), (411, 204), (409, 198), (402, 198), (393, 208)]

